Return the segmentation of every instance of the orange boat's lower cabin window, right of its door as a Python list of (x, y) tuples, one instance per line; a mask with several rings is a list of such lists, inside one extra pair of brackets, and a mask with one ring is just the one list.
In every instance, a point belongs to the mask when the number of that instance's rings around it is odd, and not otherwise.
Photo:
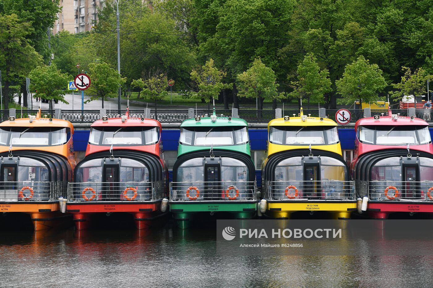
[(39, 160), (21, 158), (18, 166), (17, 181), (48, 182), (48, 168)]

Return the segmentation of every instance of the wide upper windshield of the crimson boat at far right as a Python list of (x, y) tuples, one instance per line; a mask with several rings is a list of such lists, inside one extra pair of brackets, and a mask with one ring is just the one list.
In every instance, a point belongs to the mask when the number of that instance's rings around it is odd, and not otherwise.
[(404, 146), (429, 144), (428, 126), (367, 125), (358, 128), (358, 139), (365, 144)]

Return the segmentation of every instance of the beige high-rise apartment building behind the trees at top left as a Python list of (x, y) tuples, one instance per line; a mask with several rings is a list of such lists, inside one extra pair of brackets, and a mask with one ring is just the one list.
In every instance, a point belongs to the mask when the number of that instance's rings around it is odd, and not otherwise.
[(62, 30), (71, 33), (90, 31), (103, 3), (104, 0), (60, 0), (62, 9), (54, 23), (53, 34)]

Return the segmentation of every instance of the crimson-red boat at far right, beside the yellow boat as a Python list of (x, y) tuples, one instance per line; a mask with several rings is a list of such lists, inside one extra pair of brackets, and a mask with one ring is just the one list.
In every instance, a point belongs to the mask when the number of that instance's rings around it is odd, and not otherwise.
[(429, 124), (389, 109), (387, 116), (359, 119), (355, 131), (351, 170), (357, 195), (368, 197), (364, 211), (381, 219), (393, 212), (433, 212)]

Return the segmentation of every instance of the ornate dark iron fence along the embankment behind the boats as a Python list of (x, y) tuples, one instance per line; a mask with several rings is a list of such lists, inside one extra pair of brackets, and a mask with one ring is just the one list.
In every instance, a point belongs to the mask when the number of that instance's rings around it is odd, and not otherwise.
[[(338, 109), (327, 109), (326, 116), (332, 120), (335, 120), (335, 114)], [(355, 123), (364, 116), (364, 111), (361, 109), (349, 109), (351, 113), (350, 122)], [(36, 115), (38, 110), (16, 110), (16, 118), (28, 118), (29, 115)], [(212, 109), (199, 109), (195, 111), (195, 115), (204, 117), (205, 115), (211, 115)], [(282, 116), (298, 116), (299, 109), (284, 109)], [(407, 116), (407, 109), (392, 109), (394, 114), (399, 114), (400, 116)], [(125, 115), (126, 110), (107, 110), (107, 116), (110, 118), (119, 117), (118, 115)], [(371, 110), (373, 115), (388, 115), (388, 110), (385, 109), (375, 109)], [(72, 123), (93, 123), (100, 119), (104, 115), (100, 115), (100, 110), (62, 110), (62, 118), (68, 120)], [(47, 118), (58, 118), (55, 115), (55, 110), (42, 110), (42, 117)], [(129, 115), (136, 117), (152, 118), (157, 119), (161, 123), (180, 123), (188, 118), (188, 110), (151, 110), (150, 115), (146, 115), (145, 110), (129, 110)], [(216, 109), (216, 115), (231, 116), (232, 109)], [(272, 119), (275, 119), (275, 110), (255, 110), (255, 109), (239, 109), (239, 118), (246, 120), (249, 123), (268, 123)], [(304, 109), (304, 115), (310, 115), (313, 117), (319, 116), (319, 109)], [(433, 122), (433, 109), (416, 109), (416, 115), (418, 118), (424, 119), (427, 122)], [(4, 121), (9, 117), (9, 110), (0, 110), (0, 120)]]

